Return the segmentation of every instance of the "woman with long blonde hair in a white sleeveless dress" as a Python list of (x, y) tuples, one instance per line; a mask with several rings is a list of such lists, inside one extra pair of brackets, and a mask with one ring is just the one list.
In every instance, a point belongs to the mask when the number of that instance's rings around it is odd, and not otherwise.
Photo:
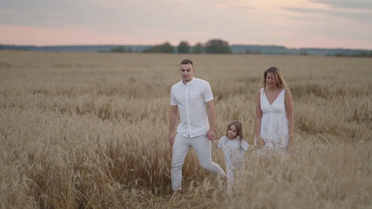
[(284, 155), (294, 134), (293, 101), (282, 72), (278, 67), (270, 67), (263, 73), (263, 88), (257, 92), (256, 137), (254, 145), (264, 151)]

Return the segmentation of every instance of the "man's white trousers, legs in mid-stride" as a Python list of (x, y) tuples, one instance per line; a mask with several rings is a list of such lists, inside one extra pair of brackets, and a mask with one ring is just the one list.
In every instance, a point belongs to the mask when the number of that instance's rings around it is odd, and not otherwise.
[(195, 149), (195, 152), (198, 155), (199, 163), (203, 169), (215, 174), (216, 176), (220, 174), (221, 178), (225, 176), (224, 170), (222, 170), (217, 163), (212, 161), (212, 145), (211, 141), (206, 137), (206, 133), (191, 138), (177, 133), (173, 144), (170, 174), (173, 190), (181, 189), (182, 165), (190, 147)]

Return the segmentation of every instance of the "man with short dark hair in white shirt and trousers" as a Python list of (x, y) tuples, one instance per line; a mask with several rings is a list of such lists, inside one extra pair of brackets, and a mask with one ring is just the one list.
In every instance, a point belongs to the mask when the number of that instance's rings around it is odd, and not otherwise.
[[(195, 69), (191, 60), (183, 60), (179, 71), (182, 80), (174, 84), (170, 92), (169, 143), (173, 146), (171, 181), (174, 196), (178, 196), (181, 190), (182, 165), (190, 147), (195, 149), (203, 169), (227, 179), (222, 168), (212, 161), (211, 141), (207, 138), (208, 134), (210, 138), (215, 137), (211, 86), (207, 81), (193, 77)], [(180, 123), (174, 138), (178, 111)]]

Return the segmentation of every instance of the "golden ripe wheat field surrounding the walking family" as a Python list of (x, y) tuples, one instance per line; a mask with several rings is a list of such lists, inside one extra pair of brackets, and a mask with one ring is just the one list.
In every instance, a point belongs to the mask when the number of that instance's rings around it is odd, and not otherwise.
[[(254, 158), (234, 195), (193, 149), (170, 201), (170, 88), (179, 63), (209, 81), (216, 137), (238, 119), (254, 142), (262, 73), (292, 92), (285, 157)], [(0, 51), (0, 208), (371, 208), (372, 59)], [(225, 170), (222, 151), (212, 159)]]

